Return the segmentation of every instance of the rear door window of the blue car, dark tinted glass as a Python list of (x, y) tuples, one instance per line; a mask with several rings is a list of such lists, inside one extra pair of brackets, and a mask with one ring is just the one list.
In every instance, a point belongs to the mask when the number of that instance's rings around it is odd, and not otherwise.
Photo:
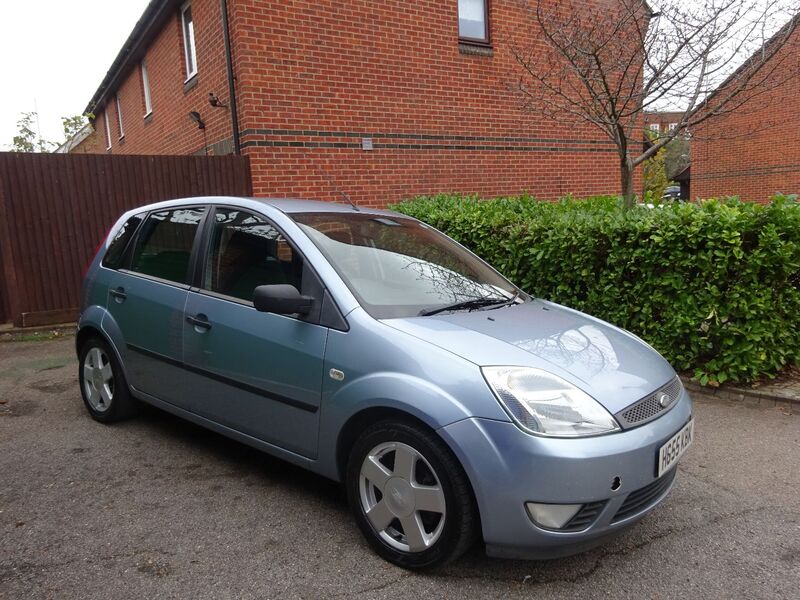
[(203, 208), (175, 208), (151, 214), (136, 242), (131, 270), (185, 283)]

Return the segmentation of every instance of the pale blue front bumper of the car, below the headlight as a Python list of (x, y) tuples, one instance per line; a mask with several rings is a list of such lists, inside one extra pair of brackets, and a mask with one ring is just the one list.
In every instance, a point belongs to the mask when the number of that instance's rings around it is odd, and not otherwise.
[[(657, 481), (658, 449), (691, 416), (684, 390), (654, 421), (597, 437), (538, 437), (513, 423), (481, 418), (452, 423), (439, 433), (472, 482), (487, 553), (544, 559), (588, 550), (657, 506), (672, 489), (677, 468)], [(616, 478), (620, 485), (612, 489)], [(637, 499), (645, 501), (637, 504)], [(525, 502), (603, 506), (588, 527), (564, 532), (535, 525)]]

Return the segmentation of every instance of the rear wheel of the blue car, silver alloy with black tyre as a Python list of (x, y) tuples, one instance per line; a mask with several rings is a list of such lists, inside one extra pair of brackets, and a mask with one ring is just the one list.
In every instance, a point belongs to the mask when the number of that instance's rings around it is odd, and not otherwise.
[(122, 368), (108, 344), (98, 337), (88, 339), (81, 348), (78, 381), (83, 403), (96, 421), (113, 423), (135, 414), (136, 401)]

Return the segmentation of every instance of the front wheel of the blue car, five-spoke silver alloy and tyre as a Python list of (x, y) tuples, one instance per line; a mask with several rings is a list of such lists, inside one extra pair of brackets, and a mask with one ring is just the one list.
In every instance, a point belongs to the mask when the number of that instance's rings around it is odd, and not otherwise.
[(398, 566), (437, 567), (475, 542), (478, 511), (467, 476), (445, 443), (420, 426), (370, 426), (350, 453), (346, 486), (361, 532)]

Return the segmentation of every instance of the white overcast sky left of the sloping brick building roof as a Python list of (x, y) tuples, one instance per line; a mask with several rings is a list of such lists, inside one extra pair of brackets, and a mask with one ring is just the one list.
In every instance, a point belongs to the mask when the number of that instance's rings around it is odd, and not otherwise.
[(0, 150), (20, 113), (39, 109), (42, 136), (83, 112), (149, 0), (0, 0)]

